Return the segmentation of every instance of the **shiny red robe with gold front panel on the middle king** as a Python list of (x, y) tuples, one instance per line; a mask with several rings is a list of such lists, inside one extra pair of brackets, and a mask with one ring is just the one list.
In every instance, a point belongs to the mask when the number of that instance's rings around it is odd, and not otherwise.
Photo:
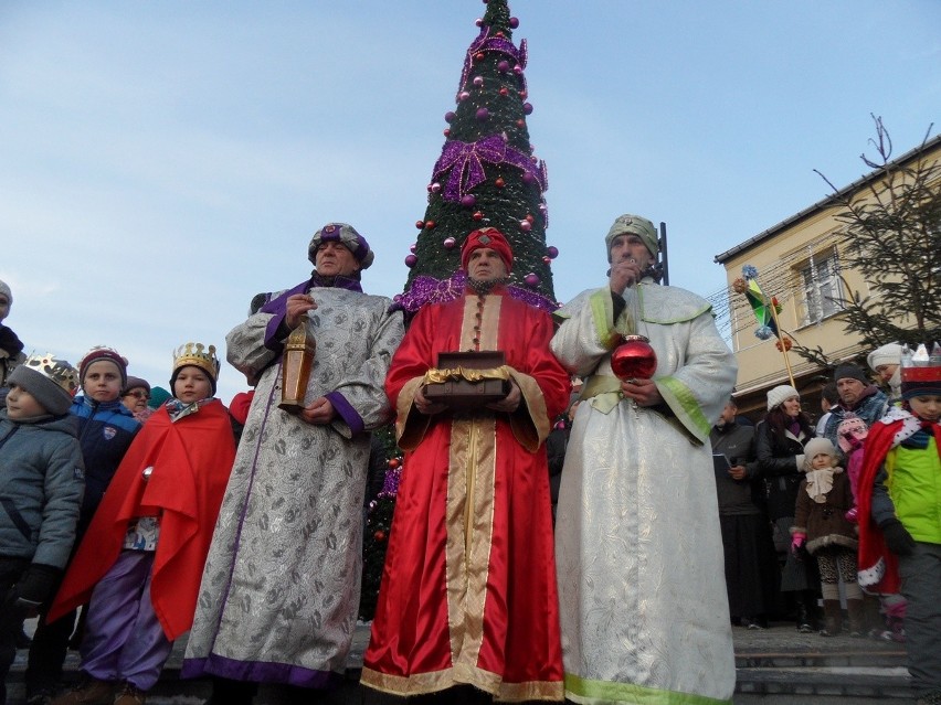
[[(361, 677), (380, 691), (469, 683), (505, 701), (562, 699), (542, 441), (570, 380), (549, 351), (549, 316), (503, 293), (482, 308), (470, 291), (425, 307), (392, 359), (385, 391), (406, 452)], [(414, 393), (437, 352), (467, 350), (505, 353), (519, 408), (419, 414)]]

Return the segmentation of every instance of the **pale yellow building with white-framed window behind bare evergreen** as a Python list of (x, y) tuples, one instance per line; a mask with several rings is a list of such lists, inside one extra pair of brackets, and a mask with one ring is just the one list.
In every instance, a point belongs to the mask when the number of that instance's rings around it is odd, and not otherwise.
[[(913, 149), (891, 164), (907, 165), (918, 159), (941, 161), (941, 136)], [(716, 255), (726, 268), (729, 284), (729, 316), (732, 351), (739, 364), (736, 399), (741, 413), (759, 418), (765, 408), (765, 393), (793, 377), (801, 392), (804, 410), (816, 417), (820, 392), (828, 382), (826, 370), (797, 354), (787, 354), (791, 375), (778, 339), (760, 340), (754, 332), (758, 321), (743, 295), (733, 290), (742, 276), (742, 267), (758, 269), (757, 281), (768, 297), (781, 305), (779, 325), (797, 343), (808, 349), (820, 346), (834, 362), (856, 361), (866, 368), (866, 354), (859, 337), (845, 330), (839, 318), (839, 299), (858, 293), (878, 296), (878, 290), (859, 271), (842, 264), (846, 225), (837, 216), (845, 212), (847, 200), (871, 199), (878, 192), (884, 170), (876, 170), (833, 195), (804, 209), (754, 237)], [(941, 184), (939, 184), (941, 188)]]

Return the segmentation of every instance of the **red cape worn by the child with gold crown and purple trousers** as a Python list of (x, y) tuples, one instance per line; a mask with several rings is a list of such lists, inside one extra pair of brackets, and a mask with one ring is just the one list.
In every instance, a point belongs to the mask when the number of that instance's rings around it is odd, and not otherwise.
[[(215, 399), (170, 421), (160, 407), (131, 442), (49, 612), (54, 621), (92, 597), (138, 516), (160, 515), (150, 596), (170, 641), (188, 631), (219, 506), (235, 459), (229, 413)], [(145, 481), (144, 469), (152, 467)]]

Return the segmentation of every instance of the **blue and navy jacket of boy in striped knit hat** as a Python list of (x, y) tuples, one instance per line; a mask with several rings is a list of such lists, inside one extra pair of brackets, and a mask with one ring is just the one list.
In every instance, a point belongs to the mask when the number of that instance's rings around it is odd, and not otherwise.
[(120, 399), (95, 402), (78, 396), (70, 414), (78, 418), (78, 442), (85, 459), (85, 499), (78, 522), (78, 531), (84, 533), (140, 424)]

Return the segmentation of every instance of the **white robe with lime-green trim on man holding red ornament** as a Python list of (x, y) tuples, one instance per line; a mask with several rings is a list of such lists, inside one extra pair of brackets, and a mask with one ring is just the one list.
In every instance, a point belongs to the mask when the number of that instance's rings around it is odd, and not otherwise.
[[(727, 703), (736, 673), (709, 430), (736, 361), (704, 299), (649, 279), (624, 298), (615, 324), (607, 288), (579, 295), (552, 340), (588, 376), (556, 525), (565, 696)], [(613, 333), (635, 329), (657, 353), (659, 409), (624, 399), (611, 371)]]

